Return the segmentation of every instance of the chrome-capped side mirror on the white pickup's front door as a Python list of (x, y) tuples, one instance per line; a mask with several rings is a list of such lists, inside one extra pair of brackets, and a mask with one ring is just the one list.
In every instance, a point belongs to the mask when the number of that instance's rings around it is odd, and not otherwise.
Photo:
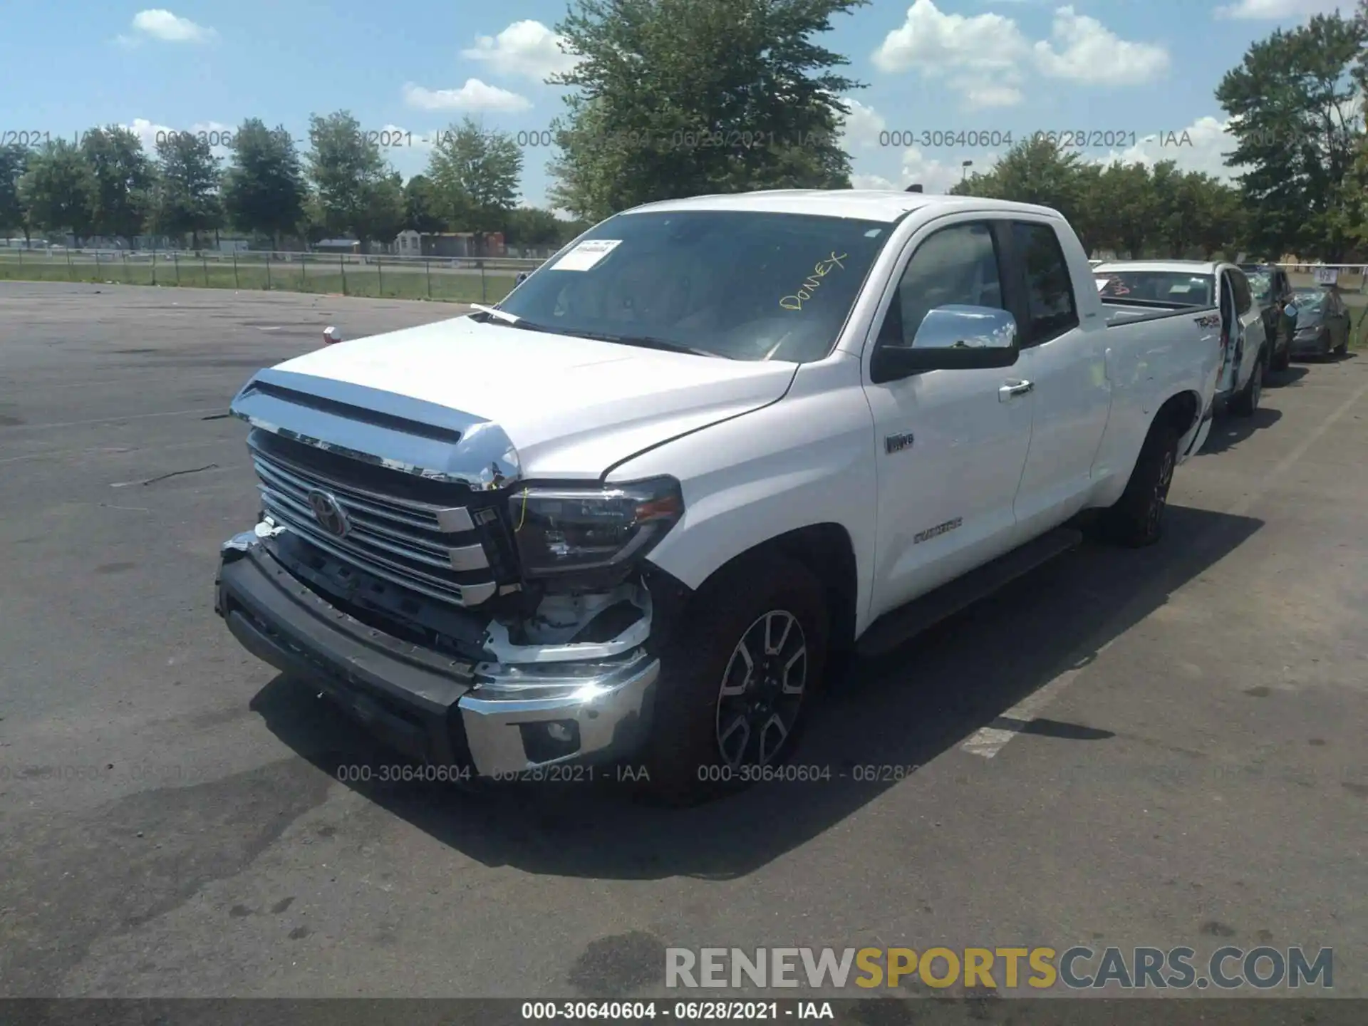
[(1016, 317), (997, 306), (937, 306), (922, 319), (912, 345), (880, 345), (870, 378), (876, 384), (918, 371), (1011, 367), (1021, 356)]

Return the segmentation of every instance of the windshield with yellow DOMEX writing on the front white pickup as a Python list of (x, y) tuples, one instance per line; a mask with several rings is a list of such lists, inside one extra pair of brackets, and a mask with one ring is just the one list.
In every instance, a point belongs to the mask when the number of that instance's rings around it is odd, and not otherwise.
[(732, 360), (821, 360), (892, 224), (755, 211), (620, 213), (499, 309), (569, 335)]

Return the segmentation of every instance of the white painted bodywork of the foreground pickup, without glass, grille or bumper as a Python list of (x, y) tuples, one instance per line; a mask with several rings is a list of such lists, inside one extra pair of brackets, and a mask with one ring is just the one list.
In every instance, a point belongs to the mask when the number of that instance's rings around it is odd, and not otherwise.
[[(837, 525), (855, 557), (856, 635), (1079, 509), (1115, 502), (1170, 398), (1196, 399), (1185, 442), (1204, 434), (1219, 363), (1216, 331), (1194, 323), (1204, 312), (1108, 326), (1086, 254), (1053, 211), (856, 190), (644, 209), (676, 208), (830, 213), (896, 227), (832, 353), (815, 363), (715, 360), (453, 320), (331, 346), (282, 369), (494, 421), (529, 482), (674, 476), (685, 513), (648, 558), (691, 587), (777, 535)], [(1056, 231), (1078, 326), (1023, 349), (1014, 367), (874, 384), (873, 338), (908, 254), (947, 223), (995, 219)], [(1001, 394), (1021, 380), (1033, 389)], [(907, 434), (906, 449), (888, 442)]]

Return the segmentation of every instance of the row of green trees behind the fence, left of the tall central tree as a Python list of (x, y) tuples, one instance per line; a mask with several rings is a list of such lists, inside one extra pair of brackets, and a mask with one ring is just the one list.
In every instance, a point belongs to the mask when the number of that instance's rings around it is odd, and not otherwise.
[(155, 153), (129, 129), (78, 142), (0, 148), (0, 234), (170, 237), (198, 248), (224, 228), (317, 242), (350, 235), (363, 249), (399, 231), (502, 231), (514, 245), (560, 245), (583, 230), (518, 207), (523, 155), (512, 137), (471, 119), (439, 135), (427, 174), (405, 183), (347, 111), (309, 119), (300, 153), (285, 127), (245, 120), (227, 161), (207, 134), (166, 133)]

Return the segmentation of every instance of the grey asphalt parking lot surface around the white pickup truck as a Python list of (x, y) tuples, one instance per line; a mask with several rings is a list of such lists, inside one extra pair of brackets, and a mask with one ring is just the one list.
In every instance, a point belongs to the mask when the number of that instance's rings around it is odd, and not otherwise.
[(341, 782), (397, 759), (213, 616), (257, 510), (231, 395), (327, 324), (454, 313), (0, 285), (0, 993), (613, 997), (666, 947), (1077, 943), (1332, 947), (1368, 996), (1368, 360), (1218, 421), (1160, 546), (858, 666), (795, 759), (830, 780), (666, 811)]

